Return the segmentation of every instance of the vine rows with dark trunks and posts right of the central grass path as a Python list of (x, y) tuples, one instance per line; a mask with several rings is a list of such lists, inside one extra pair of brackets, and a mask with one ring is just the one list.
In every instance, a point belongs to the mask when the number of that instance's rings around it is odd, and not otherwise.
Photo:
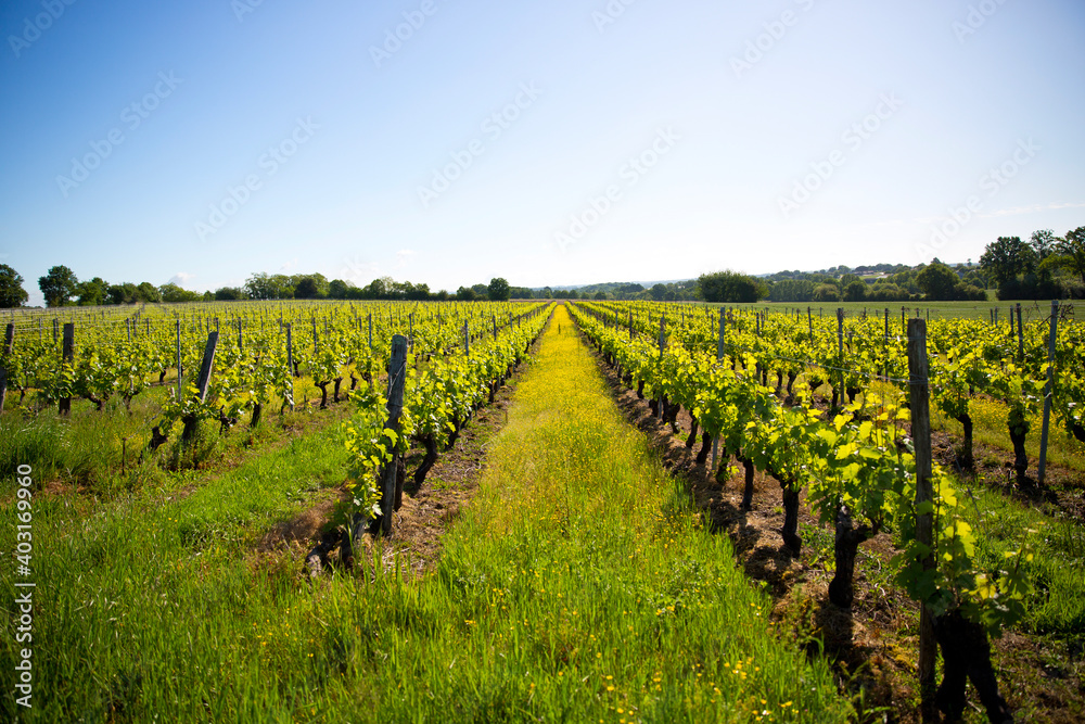
[[(1009, 710), (998, 694), (987, 636), (999, 636), (1043, 600), (1029, 573), (1041, 532), (1013, 541), (1001, 560), (978, 555), (981, 531), (966, 520), (971, 491), (958, 485), (954, 470), (932, 466), (927, 408), (961, 425), (958, 472), (974, 467), (972, 406), (990, 401), (1005, 410), (1018, 488), (1043, 484), (1051, 421), (1080, 455), (1085, 328), (1069, 319), (1060, 323), (1054, 304), (1050, 318), (1029, 327), (1020, 306), (1017, 312), (1014, 330), (993, 319), (928, 327), (919, 319), (891, 320), (888, 309), (880, 319), (845, 320), (842, 309), (833, 319), (815, 319), (809, 309), (720, 310), (716, 317), (637, 304), (574, 307), (618, 379), (650, 399), (653, 416), (686, 436), (687, 448), (700, 444), (699, 463), (710, 450), (713, 467), (722, 456), (718, 481), (729, 479), (732, 458), (742, 466), (743, 509), (751, 507), (755, 471), (779, 484), (782, 544), (795, 555), (805, 494), (820, 523), (834, 528), (828, 587), (834, 605), (853, 602), (858, 546), (891, 531), (899, 550), (892, 560), (895, 582), (922, 605), (927, 646), (936, 639), (943, 656), (944, 683), (924, 700), (959, 717), (968, 678), (992, 722), (1007, 721)], [(916, 431), (914, 403), (923, 408), (922, 432)], [(682, 409), (688, 430), (676, 424)], [(1038, 480), (1027, 474), (1025, 449), (1037, 416)], [(926, 684), (933, 686), (934, 653), (923, 646), (921, 640), (920, 677), (926, 665)]]

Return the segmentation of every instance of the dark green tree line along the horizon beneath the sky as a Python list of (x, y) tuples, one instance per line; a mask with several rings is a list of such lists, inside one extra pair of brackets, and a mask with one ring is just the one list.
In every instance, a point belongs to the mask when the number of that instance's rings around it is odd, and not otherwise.
[[(0, 264), (0, 307), (18, 307), (28, 295), (23, 277)], [(835, 266), (820, 271), (780, 271), (752, 277), (738, 271), (715, 271), (695, 280), (656, 283), (646, 288), (635, 282), (592, 284), (579, 290), (532, 290), (512, 287), (503, 278), (488, 284), (460, 287), (455, 292), (433, 292), (429, 284), (374, 279), (365, 287), (343, 279), (329, 281), (323, 275), (254, 274), (241, 287), (221, 287), (203, 293), (176, 283), (155, 287), (150, 282), (110, 283), (101, 277), (79, 281), (66, 266), (54, 266), (38, 279), (38, 288), (50, 307), (65, 305), (138, 304), (141, 302), (200, 302), (230, 300), (398, 300), (508, 301), (531, 299), (596, 299), (705, 301), (726, 303), (769, 302), (915, 302), (985, 301), (995, 289), (1000, 301), (1085, 299), (1085, 227), (1062, 237), (1050, 229), (1035, 231), (1029, 241), (999, 237), (984, 249), (979, 264), (947, 265), (933, 259), (916, 267), (880, 264), (850, 268)]]

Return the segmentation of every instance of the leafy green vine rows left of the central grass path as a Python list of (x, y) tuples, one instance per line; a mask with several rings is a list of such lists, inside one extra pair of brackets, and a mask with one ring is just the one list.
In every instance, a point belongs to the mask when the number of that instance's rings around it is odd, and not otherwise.
[[(123, 406), (131, 419), (119, 440), (99, 442), (124, 468), (129, 450), (136, 460), (170, 440), (179, 443), (175, 453), (194, 447), (201, 428), (225, 436), (239, 423), (255, 430), (266, 410), (282, 415), (310, 395), (319, 395), (320, 409), (350, 396), (368, 411), (353, 423), (353, 444), (371, 472), (392, 445), (376, 410), (385, 408), (378, 381), (387, 380), (394, 330), (406, 333), (414, 360), (406, 433), (416, 434), (417, 423), (419, 441), (435, 455), (522, 357), (544, 306), (143, 305), (135, 314), (73, 312), (63, 320), (13, 314), (0, 357), (0, 409), (55, 406), (66, 416), (73, 399), (103, 414)], [(133, 417), (133, 401), (146, 397)], [(5, 474), (14, 474), (13, 454), (7, 450)], [(25, 452), (21, 461), (28, 461)]]

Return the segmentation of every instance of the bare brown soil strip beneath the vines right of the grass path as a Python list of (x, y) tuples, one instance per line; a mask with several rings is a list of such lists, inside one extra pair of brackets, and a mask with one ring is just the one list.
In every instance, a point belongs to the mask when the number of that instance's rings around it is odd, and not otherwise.
[[(587, 340), (586, 340), (587, 342)], [(652, 417), (649, 401), (638, 399), (636, 388), (618, 380), (616, 369), (596, 355), (615, 402), (628, 420), (648, 435), (664, 463), (687, 483), (693, 503), (704, 512), (710, 530), (728, 535), (737, 563), (771, 595), (774, 621), (780, 635), (799, 640), (810, 657), (825, 656), (832, 663), (841, 693), (850, 697), (864, 722), (919, 722), (917, 687), (919, 606), (892, 581), (889, 560), (898, 552), (882, 533), (864, 543), (855, 568), (855, 600), (850, 609), (829, 601), (834, 569), (830, 525), (820, 525), (806, 503), (799, 517), (802, 551), (794, 556), (781, 539), (783, 509), (779, 483), (761, 471), (754, 478), (753, 506), (741, 509), (743, 471), (735, 460), (718, 478), (712, 456), (698, 465), (700, 434), (686, 447), (691, 419), (678, 414), (679, 433)], [(956, 444), (945, 433), (934, 442), (935, 455), (952, 455)], [(1011, 460), (1011, 454), (975, 447), (975, 459), (990, 456)], [(1048, 481), (1064, 485), (1078, 473), (1048, 469)], [(1059, 481), (1058, 483), (1056, 481)], [(1078, 495), (1081, 493), (1078, 487)], [(1064, 500), (1067, 497), (1060, 498)], [(993, 662), (1000, 693), (1019, 722), (1058, 724), (1085, 721), (1085, 661), (1083, 652), (1063, 642), (1009, 632), (992, 642)], [(969, 685), (967, 721), (985, 721)]]

